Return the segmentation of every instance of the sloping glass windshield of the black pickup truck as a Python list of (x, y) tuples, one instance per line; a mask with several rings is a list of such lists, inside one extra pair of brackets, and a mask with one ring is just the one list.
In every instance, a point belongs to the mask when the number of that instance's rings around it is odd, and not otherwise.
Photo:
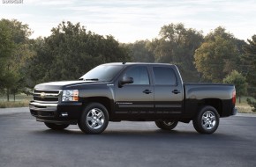
[(111, 81), (123, 67), (120, 65), (100, 65), (91, 69), (79, 79), (85, 81)]

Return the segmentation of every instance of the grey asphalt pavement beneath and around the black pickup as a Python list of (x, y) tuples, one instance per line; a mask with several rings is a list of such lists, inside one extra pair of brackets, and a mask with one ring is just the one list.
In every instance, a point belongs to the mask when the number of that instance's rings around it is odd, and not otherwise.
[(256, 117), (221, 119), (215, 134), (198, 134), (192, 123), (170, 132), (154, 122), (109, 122), (102, 134), (70, 126), (54, 131), (28, 108), (0, 109), (0, 167), (256, 166)]

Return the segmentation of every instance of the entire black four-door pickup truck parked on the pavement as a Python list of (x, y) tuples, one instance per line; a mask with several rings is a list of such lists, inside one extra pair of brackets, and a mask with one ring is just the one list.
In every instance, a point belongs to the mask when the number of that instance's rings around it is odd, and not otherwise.
[(154, 121), (171, 130), (178, 121), (201, 134), (212, 134), (221, 117), (235, 115), (232, 84), (184, 84), (177, 66), (162, 63), (108, 63), (78, 81), (34, 87), (29, 105), (36, 120), (51, 129), (78, 124), (87, 134), (100, 134), (109, 121)]

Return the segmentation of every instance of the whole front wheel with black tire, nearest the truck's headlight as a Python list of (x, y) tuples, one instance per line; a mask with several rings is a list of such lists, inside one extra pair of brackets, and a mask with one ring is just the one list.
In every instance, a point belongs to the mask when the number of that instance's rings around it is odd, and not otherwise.
[(78, 124), (86, 134), (101, 134), (109, 124), (108, 110), (102, 104), (91, 103), (84, 109)]

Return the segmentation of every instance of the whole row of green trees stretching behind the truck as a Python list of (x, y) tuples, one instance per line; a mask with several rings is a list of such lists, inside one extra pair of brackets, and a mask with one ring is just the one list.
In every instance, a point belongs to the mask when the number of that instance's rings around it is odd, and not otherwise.
[(107, 62), (173, 63), (184, 82), (236, 84), (238, 96), (256, 98), (256, 35), (239, 40), (222, 26), (203, 35), (180, 23), (163, 25), (153, 40), (120, 43), (69, 21), (48, 37), (29, 39), (32, 33), (18, 20), (0, 20), (0, 90), (8, 98), (35, 84), (78, 79)]

